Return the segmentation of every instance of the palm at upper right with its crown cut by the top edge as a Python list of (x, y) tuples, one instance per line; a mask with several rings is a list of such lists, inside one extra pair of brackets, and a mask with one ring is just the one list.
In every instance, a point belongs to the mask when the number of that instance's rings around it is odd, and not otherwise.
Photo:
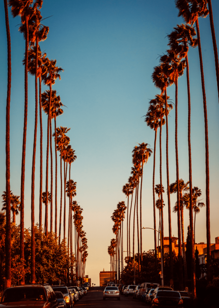
[[(198, 52), (200, 60), (201, 70), (201, 81), (202, 81), (202, 96), (203, 96), (203, 107), (204, 107), (204, 119), (205, 119), (205, 161), (206, 161), (206, 235), (207, 235), (207, 279), (208, 282), (212, 281), (212, 261), (211, 261), (211, 235), (210, 235), (210, 199), (209, 199), (209, 148), (208, 148), (208, 116), (207, 116), (207, 105), (206, 105), (206, 94), (205, 94), (205, 79), (202, 63), (202, 48), (200, 41), (200, 31), (198, 17), (206, 17), (208, 15), (207, 0), (200, 0), (199, 2), (194, 0), (176, 0), (176, 7), (179, 9), (178, 16), (182, 16), (186, 23), (191, 26), (195, 23), (198, 37)], [(193, 233), (191, 233), (193, 238)], [(192, 245), (193, 245), (193, 241)], [(193, 254), (192, 249), (192, 254)], [(195, 276), (194, 276), (194, 256), (192, 262), (193, 268), (193, 297), (196, 298), (195, 290)]]

